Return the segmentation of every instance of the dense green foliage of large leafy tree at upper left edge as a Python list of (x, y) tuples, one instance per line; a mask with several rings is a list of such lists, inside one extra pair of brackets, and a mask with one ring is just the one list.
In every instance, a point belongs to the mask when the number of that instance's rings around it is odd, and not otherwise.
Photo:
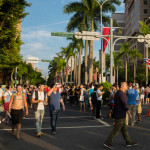
[[(21, 19), (30, 6), (26, 0), (0, 0), (0, 71), (14, 70), (21, 62), (20, 39)], [(11, 71), (5, 73), (10, 76)]]

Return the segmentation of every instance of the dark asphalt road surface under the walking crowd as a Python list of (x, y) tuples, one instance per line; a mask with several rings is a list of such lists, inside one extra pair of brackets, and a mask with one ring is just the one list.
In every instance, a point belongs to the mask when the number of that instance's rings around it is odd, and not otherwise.
[[(11, 135), (11, 127), (0, 124), (0, 150), (105, 150), (103, 143), (111, 131), (112, 119), (108, 118), (107, 107), (103, 107), (103, 120), (94, 120), (89, 110), (79, 112), (78, 106), (66, 105), (66, 111), (60, 113), (57, 134), (51, 135), (49, 111), (43, 122), (44, 135), (36, 137), (34, 113), (23, 119), (21, 139)], [(139, 145), (127, 148), (121, 134), (115, 137), (113, 146), (116, 150), (149, 150), (150, 149), (150, 118), (147, 117), (148, 106), (143, 106), (143, 123), (129, 126), (129, 134)]]

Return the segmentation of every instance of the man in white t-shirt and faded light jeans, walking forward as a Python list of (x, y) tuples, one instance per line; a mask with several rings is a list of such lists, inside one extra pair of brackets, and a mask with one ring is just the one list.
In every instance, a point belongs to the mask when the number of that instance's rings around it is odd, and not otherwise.
[(32, 108), (35, 112), (37, 137), (40, 137), (43, 117), (45, 113), (44, 105), (47, 105), (47, 93), (44, 91), (44, 85), (40, 84), (39, 90), (35, 91), (32, 96)]

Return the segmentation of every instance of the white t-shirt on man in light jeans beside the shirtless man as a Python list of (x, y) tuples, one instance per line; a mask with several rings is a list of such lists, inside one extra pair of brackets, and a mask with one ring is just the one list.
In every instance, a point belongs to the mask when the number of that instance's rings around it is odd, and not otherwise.
[[(35, 92), (33, 93), (32, 98), (35, 99)], [(46, 94), (45, 98), (47, 98), (47, 94)], [(44, 92), (39, 92), (38, 91), (38, 100), (43, 100), (43, 102), (38, 103), (37, 110), (44, 110)]]

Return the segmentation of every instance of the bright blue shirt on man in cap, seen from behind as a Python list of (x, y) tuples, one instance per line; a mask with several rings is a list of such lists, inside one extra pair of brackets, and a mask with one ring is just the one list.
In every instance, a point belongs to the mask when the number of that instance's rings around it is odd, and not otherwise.
[(138, 96), (138, 91), (136, 89), (129, 89), (127, 91), (127, 95), (128, 95), (128, 105), (136, 105), (136, 99)]

